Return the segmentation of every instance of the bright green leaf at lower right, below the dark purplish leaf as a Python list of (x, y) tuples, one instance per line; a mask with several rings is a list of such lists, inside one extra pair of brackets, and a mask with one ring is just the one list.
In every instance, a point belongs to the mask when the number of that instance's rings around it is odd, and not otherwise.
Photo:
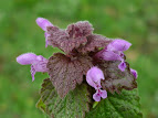
[(85, 118), (143, 118), (137, 89), (110, 94), (86, 114)]

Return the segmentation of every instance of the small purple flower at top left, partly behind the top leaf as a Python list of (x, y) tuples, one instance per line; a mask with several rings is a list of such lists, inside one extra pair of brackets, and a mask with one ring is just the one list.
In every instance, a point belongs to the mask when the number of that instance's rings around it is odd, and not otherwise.
[(36, 24), (38, 24), (43, 31), (45, 31), (45, 33), (44, 33), (44, 35), (45, 35), (45, 47), (48, 47), (48, 36), (49, 36), (49, 34), (48, 34), (48, 32), (46, 32), (46, 28), (48, 28), (48, 26), (53, 26), (53, 24), (52, 24), (49, 20), (46, 20), (46, 19), (44, 19), (44, 18), (38, 18), (38, 19), (36, 19)]

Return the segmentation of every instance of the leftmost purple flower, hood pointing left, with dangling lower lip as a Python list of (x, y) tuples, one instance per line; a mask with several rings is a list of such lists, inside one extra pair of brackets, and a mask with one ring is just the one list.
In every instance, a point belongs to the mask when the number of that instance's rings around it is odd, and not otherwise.
[(35, 55), (33, 53), (21, 54), (17, 57), (17, 62), (21, 65), (31, 64), (32, 81), (34, 81), (35, 72), (48, 72), (48, 60), (42, 55)]

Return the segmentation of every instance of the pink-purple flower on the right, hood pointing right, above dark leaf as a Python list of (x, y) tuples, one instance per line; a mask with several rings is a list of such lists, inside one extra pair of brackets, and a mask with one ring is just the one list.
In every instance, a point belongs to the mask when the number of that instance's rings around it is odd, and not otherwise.
[(126, 68), (126, 63), (124, 60), (124, 51), (127, 51), (130, 47), (131, 43), (116, 39), (109, 43), (104, 50), (96, 53), (97, 58), (103, 58), (105, 61), (120, 61), (118, 68), (124, 72)]

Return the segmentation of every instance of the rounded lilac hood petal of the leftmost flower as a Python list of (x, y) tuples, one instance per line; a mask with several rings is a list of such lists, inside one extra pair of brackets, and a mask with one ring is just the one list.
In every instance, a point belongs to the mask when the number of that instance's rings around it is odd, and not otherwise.
[(36, 55), (33, 53), (21, 54), (17, 57), (17, 62), (21, 65), (33, 64), (36, 60)]

